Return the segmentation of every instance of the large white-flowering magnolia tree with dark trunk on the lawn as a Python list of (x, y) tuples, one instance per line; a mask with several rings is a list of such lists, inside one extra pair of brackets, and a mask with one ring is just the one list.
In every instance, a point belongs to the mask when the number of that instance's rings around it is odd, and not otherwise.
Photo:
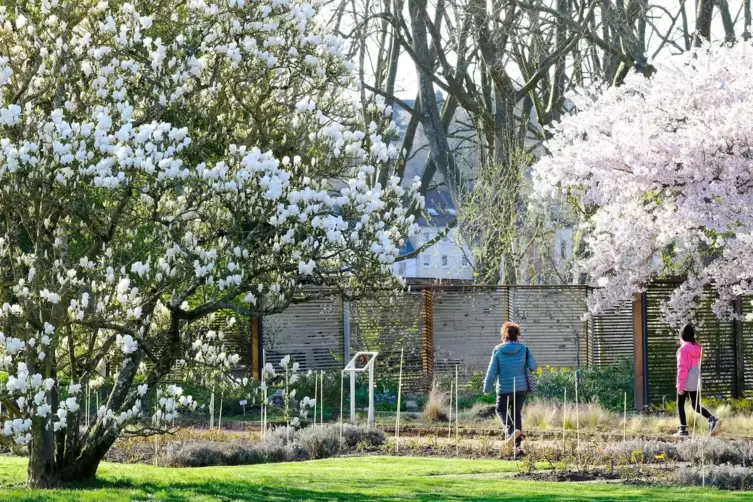
[(238, 361), (196, 343), (212, 313), (391, 280), (422, 202), (374, 182), (391, 110), (356, 114), (343, 54), (303, 0), (0, 5), (0, 423), (30, 485), (194, 407), (175, 365)]

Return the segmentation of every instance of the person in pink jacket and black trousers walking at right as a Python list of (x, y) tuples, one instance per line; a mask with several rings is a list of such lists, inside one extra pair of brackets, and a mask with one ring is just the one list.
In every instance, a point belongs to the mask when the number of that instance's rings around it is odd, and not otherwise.
[(688, 435), (688, 422), (685, 416), (685, 400), (688, 397), (693, 409), (708, 420), (709, 434), (713, 435), (719, 430), (721, 420), (703, 408), (698, 398), (703, 347), (695, 341), (695, 329), (690, 324), (680, 332), (680, 340), (680, 348), (677, 350), (677, 414), (680, 416), (680, 429), (675, 436)]

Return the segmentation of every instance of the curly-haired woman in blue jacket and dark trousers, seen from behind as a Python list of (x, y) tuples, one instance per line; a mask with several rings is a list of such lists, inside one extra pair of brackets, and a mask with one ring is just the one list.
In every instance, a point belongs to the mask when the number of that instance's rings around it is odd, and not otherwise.
[(515, 441), (516, 448), (520, 448), (522, 440), (520, 415), (528, 394), (526, 367), (531, 371), (538, 368), (531, 351), (519, 339), (520, 326), (506, 322), (502, 326), (502, 343), (494, 347), (484, 379), (484, 393), (489, 393), (492, 385), (497, 386), (497, 415), (505, 427), (507, 442)]

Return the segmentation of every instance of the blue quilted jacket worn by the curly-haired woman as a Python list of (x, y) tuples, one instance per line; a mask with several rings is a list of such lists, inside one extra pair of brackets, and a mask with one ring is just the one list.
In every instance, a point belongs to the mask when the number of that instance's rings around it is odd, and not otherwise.
[[(526, 361), (526, 352), (528, 360)], [(497, 384), (497, 394), (509, 394), (528, 390), (526, 363), (531, 371), (538, 365), (531, 351), (518, 342), (506, 342), (494, 347), (492, 360), (484, 379), (484, 392), (490, 392), (492, 385)]]

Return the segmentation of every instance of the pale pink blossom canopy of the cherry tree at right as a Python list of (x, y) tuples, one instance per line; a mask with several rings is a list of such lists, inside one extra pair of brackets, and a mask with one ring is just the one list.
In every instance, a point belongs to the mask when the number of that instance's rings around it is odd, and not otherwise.
[(650, 281), (684, 277), (664, 306), (691, 321), (704, 289), (730, 316), (753, 293), (753, 48), (703, 47), (651, 79), (571, 96), (533, 170), (537, 197), (575, 196), (591, 214), (583, 267), (600, 286), (590, 307), (616, 306)]

